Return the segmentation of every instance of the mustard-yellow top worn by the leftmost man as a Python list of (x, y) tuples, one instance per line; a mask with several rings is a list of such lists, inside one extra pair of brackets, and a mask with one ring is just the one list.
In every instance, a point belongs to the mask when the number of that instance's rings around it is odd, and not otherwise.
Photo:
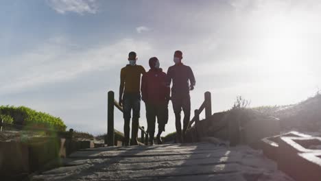
[(141, 65), (127, 65), (121, 69), (121, 86), (124, 93), (141, 93), (141, 75), (146, 73)]

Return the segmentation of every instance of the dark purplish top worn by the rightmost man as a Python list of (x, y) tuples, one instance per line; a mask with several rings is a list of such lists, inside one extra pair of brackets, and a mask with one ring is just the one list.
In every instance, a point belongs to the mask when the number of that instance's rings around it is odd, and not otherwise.
[(191, 67), (182, 63), (169, 67), (167, 71), (167, 84), (170, 85), (171, 81), (173, 81), (171, 97), (189, 95), (189, 82), (191, 82), (191, 85), (195, 85), (195, 77)]

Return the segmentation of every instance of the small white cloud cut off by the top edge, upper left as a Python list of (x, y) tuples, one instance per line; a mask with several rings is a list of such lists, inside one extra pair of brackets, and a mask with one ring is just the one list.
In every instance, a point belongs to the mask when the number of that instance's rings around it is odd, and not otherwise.
[(66, 12), (95, 14), (98, 10), (96, 0), (47, 0), (47, 3), (60, 14)]

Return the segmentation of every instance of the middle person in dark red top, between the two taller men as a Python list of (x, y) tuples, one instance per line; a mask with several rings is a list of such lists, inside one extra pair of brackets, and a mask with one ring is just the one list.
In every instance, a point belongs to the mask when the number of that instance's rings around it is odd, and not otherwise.
[(150, 71), (145, 73), (141, 82), (141, 95), (145, 101), (147, 132), (150, 134), (150, 145), (154, 145), (156, 117), (158, 122), (157, 143), (161, 144), (160, 134), (165, 131), (168, 121), (169, 86), (167, 75), (160, 69), (156, 57), (150, 58)]

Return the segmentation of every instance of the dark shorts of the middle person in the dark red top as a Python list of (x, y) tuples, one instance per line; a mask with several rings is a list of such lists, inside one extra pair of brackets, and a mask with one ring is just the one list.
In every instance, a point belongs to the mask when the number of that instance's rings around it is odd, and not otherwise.
[(155, 123), (157, 117), (158, 131), (165, 132), (165, 125), (168, 121), (167, 104), (145, 104), (147, 118), (147, 132), (155, 132)]

